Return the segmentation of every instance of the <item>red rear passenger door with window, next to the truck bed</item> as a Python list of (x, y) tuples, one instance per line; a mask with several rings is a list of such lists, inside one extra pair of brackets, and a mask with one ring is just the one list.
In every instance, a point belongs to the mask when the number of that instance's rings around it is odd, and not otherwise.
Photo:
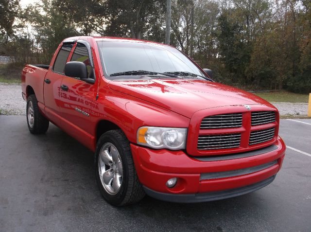
[(60, 87), (64, 75), (64, 68), (73, 47), (72, 43), (64, 43), (55, 59), (52, 69), (44, 79), (44, 105), (48, 118), (56, 125), (60, 125)]

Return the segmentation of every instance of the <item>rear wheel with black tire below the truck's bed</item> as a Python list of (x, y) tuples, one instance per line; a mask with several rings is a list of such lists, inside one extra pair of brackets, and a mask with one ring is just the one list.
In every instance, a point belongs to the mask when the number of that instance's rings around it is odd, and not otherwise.
[(29, 95), (27, 99), (26, 118), (30, 133), (44, 134), (47, 132), (50, 122), (41, 114), (35, 94)]

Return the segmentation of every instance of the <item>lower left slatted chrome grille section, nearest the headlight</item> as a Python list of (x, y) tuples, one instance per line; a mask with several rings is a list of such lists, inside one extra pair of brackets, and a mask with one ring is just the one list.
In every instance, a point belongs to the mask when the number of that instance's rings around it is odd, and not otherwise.
[(219, 135), (200, 135), (198, 149), (223, 149), (239, 147), (241, 134), (219, 134)]

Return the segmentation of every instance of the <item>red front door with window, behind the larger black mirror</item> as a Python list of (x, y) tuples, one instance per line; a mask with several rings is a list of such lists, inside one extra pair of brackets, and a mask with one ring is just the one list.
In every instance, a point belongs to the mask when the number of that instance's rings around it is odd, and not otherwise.
[[(95, 79), (94, 65), (88, 42), (85, 40), (77, 41), (70, 61), (85, 63), (88, 77)], [(88, 146), (94, 139), (92, 136), (94, 126), (91, 120), (91, 110), (93, 99), (95, 99), (97, 93), (97, 85), (86, 83), (80, 78), (65, 76), (62, 79), (61, 86), (60, 115), (62, 117), (62, 128), (69, 135)]]

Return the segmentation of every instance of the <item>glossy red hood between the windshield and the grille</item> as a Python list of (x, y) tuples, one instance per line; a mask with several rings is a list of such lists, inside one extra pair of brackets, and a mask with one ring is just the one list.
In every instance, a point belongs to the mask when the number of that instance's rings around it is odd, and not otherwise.
[(109, 88), (191, 118), (194, 112), (212, 107), (267, 105), (262, 98), (230, 86), (205, 80), (110, 81)]

